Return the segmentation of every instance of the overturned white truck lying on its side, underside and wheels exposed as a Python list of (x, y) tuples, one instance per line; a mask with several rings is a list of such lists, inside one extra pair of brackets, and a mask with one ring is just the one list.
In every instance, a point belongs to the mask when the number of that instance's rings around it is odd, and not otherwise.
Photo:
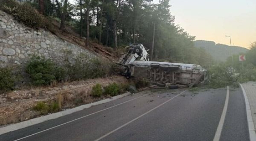
[(119, 73), (127, 78), (150, 81), (158, 87), (171, 83), (170, 89), (177, 89), (177, 84), (193, 87), (206, 78), (206, 69), (200, 65), (149, 61), (147, 50), (140, 43), (131, 44), (126, 49), (128, 52), (118, 63)]

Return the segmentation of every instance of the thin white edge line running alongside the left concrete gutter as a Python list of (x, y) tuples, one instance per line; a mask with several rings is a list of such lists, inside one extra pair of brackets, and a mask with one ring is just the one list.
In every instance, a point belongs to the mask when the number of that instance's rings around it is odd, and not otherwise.
[(27, 138), (27, 137), (34, 136), (34, 135), (36, 135), (36, 134), (40, 134), (40, 133), (42, 133), (42, 132), (45, 132), (45, 131), (51, 130), (51, 129), (53, 129), (53, 128), (60, 127), (60, 126), (62, 126), (62, 125), (65, 125), (65, 124), (71, 123), (71, 122), (73, 122), (73, 121), (77, 121), (77, 120), (82, 119), (82, 118), (84, 118), (84, 117), (91, 116), (91, 115), (93, 115), (93, 114), (96, 114), (96, 113), (102, 112), (102, 111), (104, 111), (104, 110), (108, 110), (108, 109), (113, 108), (113, 107), (117, 107), (117, 106), (119, 106), (119, 105), (122, 105), (122, 104), (124, 104), (124, 103), (130, 102), (130, 101), (133, 101), (133, 100), (138, 99), (138, 98), (141, 98), (141, 97), (143, 97), (143, 96), (147, 96), (147, 95), (142, 95), (142, 96), (139, 96), (139, 97), (137, 97), (137, 98), (130, 99), (130, 100), (125, 101), (125, 102), (123, 102), (123, 103), (120, 103), (120, 104), (117, 104), (117, 105), (111, 106), (111, 107), (109, 107), (109, 108), (105, 108), (105, 109), (103, 109), (103, 110), (99, 110), (99, 111), (97, 111), (97, 112), (94, 112), (94, 113), (92, 113), (92, 114), (88, 114), (88, 115), (86, 115), (86, 116), (79, 117), (79, 118), (77, 118), (77, 119), (73, 119), (72, 121), (68, 121), (68, 122), (66, 122), (66, 123), (62, 123), (62, 124), (57, 125), (57, 126), (55, 126), (55, 127), (51, 127), (51, 128), (45, 129), (45, 130), (40, 131), (40, 132), (36, 132), (36, 133), (34, 133), (34, 134), (31, 134), (31, 135), (28, 135), (28, 136), (22, 137), (22, 138), (20, 138), (20, 139), (16, 139), (16, 140), (14, 140), (14, 141), (19, 141), (19, 140), (21, 140), (21, 139), (25, 139), (25, 138)]

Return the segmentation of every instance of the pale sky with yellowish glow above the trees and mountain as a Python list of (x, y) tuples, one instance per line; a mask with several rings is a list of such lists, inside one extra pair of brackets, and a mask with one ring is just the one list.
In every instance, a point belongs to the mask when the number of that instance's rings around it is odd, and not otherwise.
[[(158, 2), (158, 0), (154, 0)], [(170, 0), (175, 24), (196, 40), (249, 48), (256, 42), (256, 0)]]

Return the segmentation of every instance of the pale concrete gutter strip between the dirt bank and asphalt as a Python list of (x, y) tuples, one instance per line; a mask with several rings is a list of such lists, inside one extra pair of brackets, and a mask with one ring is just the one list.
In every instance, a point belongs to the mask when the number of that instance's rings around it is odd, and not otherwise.
[(101, 101), (81, 105), (79, 107), (72, 108), (72, 109), (69, 109), (69, 110), (57, 112), (57, 113), (54, 113), (54, 114), (49, 114), (49, 115), (46, 115), (46, 116), (37, 117), (37, 118), (34, 118), (34, 119), (30, 119), (28, 121), (22, 121), (20, 123), (16, 123), (16, 124), (13, 124), (13, 125), (2, 127), (2, 128), (0, 128), (0, 135), (5, 134), (7, 132), (19, 130), (19, 129), (22, 129), (22, 128), (25, 128), (25, 127), (29, 127), (29, 126), (32, 126), (32, 125), (35, 125), (35, 124), (38, 124), (38, 123), (42, 123), (42, 122), (45, 122), (45, 121), (48, 121), (48, 120), (51, 120), (51, 119), (56, 119), (58, 117), (62, 117), (62, 116), (68, 115), (68, 114), (72, 114), (74, 112), (78, 112), (80, 110), (90, 108), (92, 106), (108, 103), (110, 101), (113, 101), (113, 100), (116, 100), (116, 99), (119, 99), (119, 98), (123, 98), (125, 96), (129, 96), (130, 94), (131, 94), (130, 92), (127, 92), (125, 94), (114, 96), (112, 98), (103, 99)]

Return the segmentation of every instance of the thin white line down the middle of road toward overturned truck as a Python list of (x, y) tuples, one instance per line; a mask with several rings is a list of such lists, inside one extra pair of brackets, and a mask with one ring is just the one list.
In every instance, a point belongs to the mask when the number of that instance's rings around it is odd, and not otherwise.
[(99, 141), (99, 140), (103, 139), (104, 137), (109, 136), (109, 135), (110, 135), (110, 134), (112, 134), (113, 132), (116, 132), (117, 130), (119, 130), (119, 129), (121, 129), (121, 128), (125, 127), (126, 125), (128, 125), (128, 124), (130, 124), (130, 123), (132, 123), (132, 122), (134, 122), (135, 120), (137, 120), (137, 119), (139, 119), (139, 118), (141, 118), (141, 117), (145, 116), (146, 114), (148, 114), (148, 113), (152, 112), (153, 110), (155, 110), (155, 109), (157, 109), (157, 108), (161, 107), (161, 106), (162, 106), (162, 105), (164, 105), (165, 103), (167, 103), (167, 102), (171, 101), (172, 99), (176, 98), (177, 96), (180, 96), (180, 95), (181, 95), (181, 94), (183, 94), (184, 92), (186, 92), (186, 90), (184, 90), (184, 91), (183, 91), (183, 92), (181, 92), (180, 94), (178, 94), (178, 95), (174, 96), (173, 98), (171, 98), (171, 99), (169, 99), (169, 100), (165, 101), (164, 103), (162, 103), (162, 104), (158, 105), (157, 107), (152, 108), (152, 109), (151, 109), (151, 110), (149, 110), (148, 112), (145, 112), (145, 113), (144, 113), (144, 114), (142, 114), (141, 116), (138, 116), (138, 117), (136, 117), (135, 119), (132, 119), (131, 121), (129, 121), (129, 122), (127, 122), (127, 123), (125, 123), (124, 125), (122, 125), (122, 126), (120, 126), (120, 127), (116, 128), (115, 130), (112, 130), (112, 131), (108, 132), (108, 133), (107, 133), (107, 134), (105, 134), (104, 136), (99, 137), (99, 138), (98, 138), (98, 139), (96, 139), (95, 141)]

